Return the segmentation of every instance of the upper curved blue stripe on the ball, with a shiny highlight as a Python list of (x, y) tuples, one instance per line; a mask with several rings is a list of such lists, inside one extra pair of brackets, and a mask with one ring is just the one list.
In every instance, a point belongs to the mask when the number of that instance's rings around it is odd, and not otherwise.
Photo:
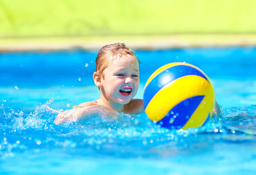
[(153, 98), (153, 96), (155, 96), (155, 94), (158, 93), (161, 88), (168, 84), (168, 82), (171, 82), (174, 79), (178, 79), (180, 77), (184, 77), (186, 75), (198, 75), (209, 81), (201, 71), (198, 71), (198, 69), (195, 69), (191, 66), (172, 66), (162, 71), (155, 78), (153, 78), (152, 81), (145, 88), (143, 97), (145, 109), (150, 103), (150, 100)]

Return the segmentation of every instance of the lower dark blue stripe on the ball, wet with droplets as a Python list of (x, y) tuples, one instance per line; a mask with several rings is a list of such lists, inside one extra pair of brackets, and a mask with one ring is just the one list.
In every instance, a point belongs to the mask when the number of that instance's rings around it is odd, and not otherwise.
[(182, 128), (187, 121), (190, 120), (190, 117), (195, 112), (195, 109), (198, 108), (203, 98), (204, 96), (187, 98), (185, 101), (174, 106), (171, 111), (166, 114), (166, 117), (163, 117), (163, 119), (158, 121), (157, 124), (169, 129)]

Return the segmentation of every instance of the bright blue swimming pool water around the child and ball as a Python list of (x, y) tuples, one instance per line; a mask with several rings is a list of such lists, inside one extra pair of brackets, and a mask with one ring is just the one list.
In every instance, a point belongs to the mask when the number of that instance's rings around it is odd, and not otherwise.
[(256, 48), (135, 50), (144, 84), (185, 61), (212, 80), (224, 117), (169, 131), (145, 114), (58, 126), (59, 109), (99, 97), (96, 51), (0, 53), (0, 174), (255, 174)]

